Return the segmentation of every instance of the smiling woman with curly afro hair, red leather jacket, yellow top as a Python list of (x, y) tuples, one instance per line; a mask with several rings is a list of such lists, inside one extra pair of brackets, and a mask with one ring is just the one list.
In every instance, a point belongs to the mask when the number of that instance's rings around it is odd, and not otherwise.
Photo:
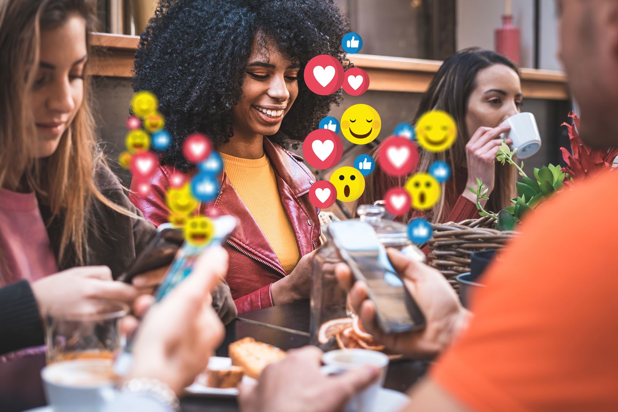
[(195, 173), (182, 143), (195, 131), (210, 137), (224, 163), (221, 192), (198, 212), (239, 220), (226, 244), (239, 312), (309, 297), (320, 236), (308, 199), (315, 178), (284, 147), (298, 148), (339, 104), (341, 91), (308, 89), (303, 67), (319, 54), (349, 66), (347, 31), (332, 0), (163, 0), (140, 37), (133, 90), (158, 97), (172, 144), (150, 193), (132, 201), (155, 225), (168, 221), (169, 176)]

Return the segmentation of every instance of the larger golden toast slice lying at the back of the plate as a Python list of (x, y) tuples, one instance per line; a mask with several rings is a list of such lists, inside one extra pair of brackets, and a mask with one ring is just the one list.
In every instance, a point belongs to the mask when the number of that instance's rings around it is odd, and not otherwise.
[(228, 352), (232, 365), (242, 367), (253, 379), (258, 379), (266, 366), (286, 357), (285, 351), (249, 337), (231, 343)]

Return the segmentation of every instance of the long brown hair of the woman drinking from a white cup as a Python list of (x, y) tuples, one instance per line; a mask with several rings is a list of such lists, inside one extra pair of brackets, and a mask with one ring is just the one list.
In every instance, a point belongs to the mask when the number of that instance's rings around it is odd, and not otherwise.
[[(451, 114), (457, 123), (458, 138), (455, 144), (446, 152), (433, 153), (422, 150), (416, 171), (427, 171), (431, 163), (436, 160), (446, 161), (451, 165), (453, 177), (442, 187), (442, 196), (427, 217), (434, 223), (446, 219), (455, 204), (457, 197), (464, 190), (456, 187), (455, 174), (458, 169), (465, 165), (465, 145), (470, 136), (466, 127), (466, 114), (468, 112), (468, 100), (470, 94), (476, 88), (476, 74), (486, 67), (494, 64), (504, 64), (520, 75), (517, 66), (509, 59), (489, 50), (469, 48), (459, 51), (447, 58), (434, 76), (431, 84), (423, 95), (418, 106), (412, 124), (415, 124), (423, 113), (430, 110), (443, 110)], [(474, 131), (472, 131), (474, 132)], [(463, 137), (463, 139), (462, 139)], [(379, 156), (379, 146), (371, 150), (370, 155), (374, 158)], [(376, 162), (377, 163), (377, 162)], [(496, 163), (496, 184), (489, 195), (487, 202), (488, 210), (501, 210), (510, 205), (510, 199), (515, 197), (515, 168), (510, 165)], [(377, 172), (377, 173), (376, 173)], [(392, 187), (403, 187), (407, 177), (393, 178), (383, 171), (376, 170), (366, 179), (365, 192), (359, 200), (359, 204), (371, 203), (384, 199), (386, 192)], [(418, 213), (417, 213), (418, 214)], [(413, 217), (414, 215), (412, 215)], [(404, 217), (408, 220), (410, 216)]]

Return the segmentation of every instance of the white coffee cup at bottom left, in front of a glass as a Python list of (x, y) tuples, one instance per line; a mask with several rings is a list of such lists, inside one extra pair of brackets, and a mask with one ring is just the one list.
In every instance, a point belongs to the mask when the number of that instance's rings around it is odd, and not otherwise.
[(116, 396), (111, 359), (75, 359), (41, 371), (45, 396), (54, 412), (103, 412)]

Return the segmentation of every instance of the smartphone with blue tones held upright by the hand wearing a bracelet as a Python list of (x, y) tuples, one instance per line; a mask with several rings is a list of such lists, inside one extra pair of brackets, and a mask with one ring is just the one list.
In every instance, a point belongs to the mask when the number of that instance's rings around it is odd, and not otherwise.
[(163, 283), (159, 286), (155, 295), (155, 302), (161, 301), (176, 285), (186, 278), (193, 269), (193, 264), (197, 260), (201, 252), (212, 246), (221, 246), (227, 239), (230, 233), (236, 227), (236, 218), (224, 215), (211, 219), (214, 226), (213, 238), (206, 244), (201, 246), (193, 246), (189, 242), (185, 242), (177, 252), (174, 261), (167, 270)]

